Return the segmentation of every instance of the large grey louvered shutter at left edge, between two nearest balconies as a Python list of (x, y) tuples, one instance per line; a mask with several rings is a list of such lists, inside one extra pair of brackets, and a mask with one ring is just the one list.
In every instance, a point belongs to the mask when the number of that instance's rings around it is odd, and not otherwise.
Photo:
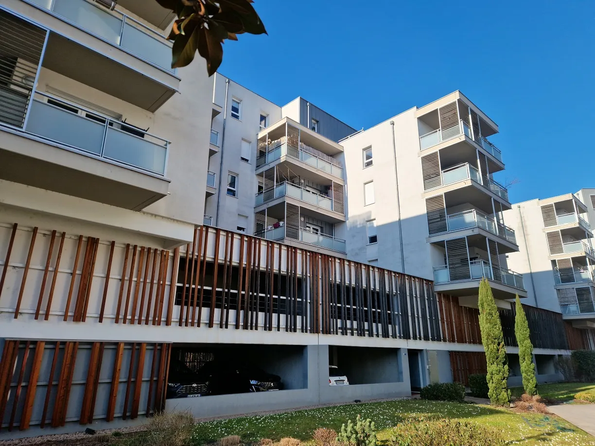
[(23, 128), (46, 33), (0, 10), (0, 123)]

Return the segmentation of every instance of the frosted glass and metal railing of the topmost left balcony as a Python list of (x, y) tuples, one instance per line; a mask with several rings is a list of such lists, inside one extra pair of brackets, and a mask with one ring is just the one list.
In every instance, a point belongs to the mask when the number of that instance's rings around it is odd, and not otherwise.
[(171, 68), (171, 43), (165, 36), (120, 11), (108, 11), (89, 0), (26, 0), (62, 20), (112, 43), (165, 71)]

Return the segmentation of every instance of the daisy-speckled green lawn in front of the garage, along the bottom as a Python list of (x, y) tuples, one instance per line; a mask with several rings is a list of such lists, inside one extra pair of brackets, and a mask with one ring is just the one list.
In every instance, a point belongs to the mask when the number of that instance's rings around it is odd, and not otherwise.
[(593, 436), (553, 415), (518, 414), (490, 406), (423, 400), (348, 404), (267, 416), (217, 420), (198, 424), (192, 438), (196, 445), (203, 445), (227, 435), (239, 435), (245, 442), (255, 442), (261, 438), (278, 440), (284, 436), (309, 441), (316, 428), (333, 428), (338, 431), (342, 423), (347, 419), (355, 420), (357, 414), (376, 423), (381, 444), (389, 438), (391, 426), (400, 420), (411, 417), (450, 417), (492, 426), (502, 431), (509, 444), (595, 445)]

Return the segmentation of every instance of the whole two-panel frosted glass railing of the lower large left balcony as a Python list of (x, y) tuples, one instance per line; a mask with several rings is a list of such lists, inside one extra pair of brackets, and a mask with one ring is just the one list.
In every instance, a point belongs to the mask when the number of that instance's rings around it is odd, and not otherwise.
[(165, 175), (168, 141), (45, 93), (36, 93), (24, 129), (90, 155)]

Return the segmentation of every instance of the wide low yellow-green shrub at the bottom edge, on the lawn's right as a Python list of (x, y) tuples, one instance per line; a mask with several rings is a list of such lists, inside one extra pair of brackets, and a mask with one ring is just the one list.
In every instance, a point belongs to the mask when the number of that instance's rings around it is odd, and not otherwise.
[(392, 431), (388, 446), (502, 446), (499, 432), (469, 421), (408, 420)]

